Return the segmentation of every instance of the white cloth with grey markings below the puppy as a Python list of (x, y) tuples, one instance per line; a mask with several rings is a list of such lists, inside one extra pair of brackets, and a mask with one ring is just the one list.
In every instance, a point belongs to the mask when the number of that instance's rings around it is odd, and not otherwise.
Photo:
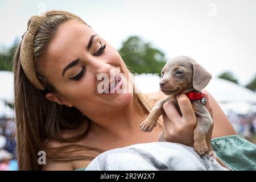
[(105, 151), (94, 158), (85, 170), (225, 171), (228, 169), (222, 167), (209, 155), (200, 157), (193, 147), (171, 142), (151, 142)]

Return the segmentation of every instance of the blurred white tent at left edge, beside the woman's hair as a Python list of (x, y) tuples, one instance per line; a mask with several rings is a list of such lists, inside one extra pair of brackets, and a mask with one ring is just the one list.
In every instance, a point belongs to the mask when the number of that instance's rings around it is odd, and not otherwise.
[(0, 71), (0, 100), (13, 103), (14, 76), (12, 72)]

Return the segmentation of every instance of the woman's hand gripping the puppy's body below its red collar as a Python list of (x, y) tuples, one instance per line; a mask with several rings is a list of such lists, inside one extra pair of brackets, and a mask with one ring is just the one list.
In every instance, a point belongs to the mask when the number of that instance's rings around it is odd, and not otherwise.
[[(208, 93), (205, 95), (207, 100), (207, 104), (205, 104), (205, 106), (213, 118)], [(175, 142), (185, 144), (187, 146), (193, 146), (193, 135), (197, 125), (197, 118), (193, 111), (191, 101), (185, 94), (180, 94), (177, 96), (177, 102), (179, 104), (182, 116), (180, 116), (179, 111), (177, 111), (176, 106), (172, 104), (172, 102), (166, 102), (163, 105), (165, 113), (162, 115), (163, 127), (162, 133), (160, 133), (159, 136), (159, 141)], [(212, 146), (210, 144), (212, 139), (212, 130), (213, 125), (206, 136), (209, 151), (212, 150)]]

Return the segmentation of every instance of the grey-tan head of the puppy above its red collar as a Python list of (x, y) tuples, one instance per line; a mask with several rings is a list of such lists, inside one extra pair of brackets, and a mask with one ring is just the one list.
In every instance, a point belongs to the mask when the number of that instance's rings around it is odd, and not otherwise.
[(212, 76), (191, 57), (178, 56), (168, 61), (161, 72), (160, 90), (166, 94), (179, 94), (195, 89), (201, 91)]

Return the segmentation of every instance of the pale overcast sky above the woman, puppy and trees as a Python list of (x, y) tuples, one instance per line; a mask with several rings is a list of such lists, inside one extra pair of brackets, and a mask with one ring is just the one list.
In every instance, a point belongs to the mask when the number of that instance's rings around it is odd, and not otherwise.
[(81, 16), (119, 48), (139, 35), (168, 59), (188, 55), (213, 76), (232, 71), (241, 84), (256, 74), (256, 1), (13, 1), (0, 0), (0, 46), (26, 31), (30, 16), (45, 10)]

